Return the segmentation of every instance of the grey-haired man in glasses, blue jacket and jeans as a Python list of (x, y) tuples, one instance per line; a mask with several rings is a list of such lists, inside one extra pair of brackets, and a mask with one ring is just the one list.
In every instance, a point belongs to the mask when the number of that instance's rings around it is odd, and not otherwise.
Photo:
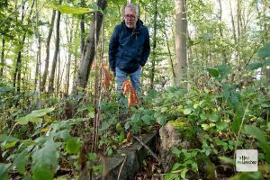
[[(109, 62), (117, 78), (118, 94), (122, 95), (121, 85), (128, 76), (137, 94), (140, 94), (141, 67), (146, 64), (149, 53), (148, 28), (139, 20), (138, 6), (127, 4), (124, 20), (114, 28), (109, 45)], [(123, 98), (119, 98), (119, 103), (125, 103)]]

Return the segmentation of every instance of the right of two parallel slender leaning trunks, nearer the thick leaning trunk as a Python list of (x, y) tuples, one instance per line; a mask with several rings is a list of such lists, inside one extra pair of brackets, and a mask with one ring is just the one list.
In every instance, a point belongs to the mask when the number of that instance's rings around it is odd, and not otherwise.
[[(61, 4), (62, 1), (59, 1), (59, 4)], [(48, 92), (53, 93), (54, 92), (54, 80), (55, 80), (55, 71), (56, 71), (56, 65), (58, 61), (58, 51), (59, 51), (59, 41), (60, 41), (60, 19), (61, 19), (61, 13), (58, 11), (58, 17), (57, 17), (57, 24), (56, 24), (56, 41), (55, 41), (55, 50), (54, 50), (54, 56), (52, 60), (52, 66), (50, 70), (49, 75), (49, 87)]]

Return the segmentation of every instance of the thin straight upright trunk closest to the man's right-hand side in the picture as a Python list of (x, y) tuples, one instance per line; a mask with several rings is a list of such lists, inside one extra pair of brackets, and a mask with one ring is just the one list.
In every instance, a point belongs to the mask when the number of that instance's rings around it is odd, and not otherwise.
[(154, 37), (153, 37), (153, 59), (150, 76), (150, 88), (154, 88), (155, 68), (156, 68), (156, 47), (157, 47), (157, 0), (155, 0), (155, 16), (154, 16)]

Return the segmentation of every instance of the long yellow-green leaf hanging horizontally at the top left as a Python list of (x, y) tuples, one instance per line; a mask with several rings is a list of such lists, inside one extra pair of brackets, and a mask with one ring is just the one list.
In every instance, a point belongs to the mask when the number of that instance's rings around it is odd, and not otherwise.
[(95, 12), (94, 9), (85, 8), (85, 7), (71, 7), (68, 5), (49, 4), (46, 7), (54, 9), (56, 11), (60, 11), (62, 14), (88, 14), (88, 13)]

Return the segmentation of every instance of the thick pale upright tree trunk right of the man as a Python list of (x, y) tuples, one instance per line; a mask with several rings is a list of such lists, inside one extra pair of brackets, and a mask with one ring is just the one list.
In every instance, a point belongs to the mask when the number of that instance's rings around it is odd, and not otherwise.
[(175, 85), (181, 85), (186, 74), (186, 32), (187, 20), (185, 0), (175, 0)]

